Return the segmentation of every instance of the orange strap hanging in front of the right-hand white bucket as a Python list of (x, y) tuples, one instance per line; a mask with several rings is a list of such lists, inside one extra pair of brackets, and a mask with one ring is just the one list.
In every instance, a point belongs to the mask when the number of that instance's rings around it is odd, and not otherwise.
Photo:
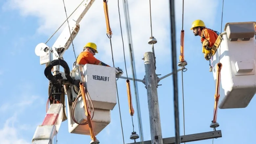
[(213, 112), (213, 122), (217, 121), (217, 111), (218, 111), (218, 103), (220, 98), (220, 82), (221, 82), (221, 68), (222, 63), (217, 64), (217, 80), (216, 80), (216, 92), (214, 95), (215, 103), (214, 103), (214, 112)]

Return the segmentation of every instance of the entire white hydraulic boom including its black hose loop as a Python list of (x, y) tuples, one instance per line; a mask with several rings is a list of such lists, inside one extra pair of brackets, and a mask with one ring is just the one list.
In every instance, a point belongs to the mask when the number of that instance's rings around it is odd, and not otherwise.
[[(49, 101), (50, 109), (44, 119), (47, 124), (39, 125), (34, 133), (32, 143), (36, 144), (53, 144), (53, 137), (57, 134), (60, 123), (67, 120), (65, 110), (65, 94), (66, 87), (71, 85), (79, 85), (80, 80), (75, 80), (70, 76), (70, 69), (68, 64), (63, 60), (63, 55), (70, 47), (72, 41), (75, 39), (78, 31), (80, 30), (79, 23), (84, 15), (90, 9), (95, 0), (83, 0), (80, 6), (75, 11), (75, 16), (72, 20), (67, 20), (68, 25), (61, 32), (53, 46), (50, 47), (45, 43), (39, 43), (35, 47), (35, 54), (40, 57), (40, 64), (46, 64), (45, 76), (49, 79)], [(64, 72), (59, 71), (59, 66), (64, 68)], [(53, 74), (52, 74), (53, 69)], [(68, 97), (70, 95), (68, 94)], [(48, 102), (47, 102), (48, 103)], [(69, 103), (72, 103), (69, 99)], [(58, 113), (50, 113), (51, 111)], [(59, 116), (61, 115), (61, 116)], [(57, 121), (53, 120), (53, 117)], [(43, 123), (44, 123), (43, 122)], [(44, 135), (44, 136), (42, 136)], [(48, 136), (48, 137), (47, 137)]]

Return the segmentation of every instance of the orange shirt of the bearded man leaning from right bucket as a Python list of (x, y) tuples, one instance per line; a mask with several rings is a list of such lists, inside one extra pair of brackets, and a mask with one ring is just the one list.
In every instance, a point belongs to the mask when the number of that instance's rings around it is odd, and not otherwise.
[(217, 38), (218, 38), (217, 33), (215, 33), (212, 30), (209, 30), (207, 28), (204, 28), (202, 34), (204, 35), (204, 38), (201, 37), (201, 42), (203, 42), (205, 39), (207, 39), (209, 41), (209, 46), (208, 47), (211, 48), (214, 45)]

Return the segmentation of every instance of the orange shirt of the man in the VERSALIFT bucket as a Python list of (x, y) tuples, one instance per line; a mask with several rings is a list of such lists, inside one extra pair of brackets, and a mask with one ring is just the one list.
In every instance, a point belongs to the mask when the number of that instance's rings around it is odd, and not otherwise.
[(98, 65), (100, 64), (100, 60), (96, 59), (94, 55), (88, 51), (81, 52), (76, 60), (77, 64), (85, 65), (85, 64), (94, 64)]

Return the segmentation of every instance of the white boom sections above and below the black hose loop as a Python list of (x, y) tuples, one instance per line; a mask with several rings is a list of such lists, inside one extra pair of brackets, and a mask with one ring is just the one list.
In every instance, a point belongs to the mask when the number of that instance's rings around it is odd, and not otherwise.
[[(47, 64), (56, 59), (63, 59), (64, 52), (71, 45), (72, 40), (75, 39), (80, 26), (79, 23), (90, 9), (95, 0), (84, 0), (81, 5), (76, 10), (75, 17), (69, 21), (69, 26), (67, 25), (65, 29), (61, 32), (55, 43), (52, 47), (47, 46), (44, 43), (39, 43), (35, 47), (35, 54), (40, 56), (40, 64)], [(71, 34), (70, 34), (71, 33)], [(59, 66), (53, 67), (54, 74), (59, 73)], [(65, 77), (65, 76), (64, 76)], [(65, 111), (65, 103), (63, 104), (51, 104), (50, 109), (47, 112), (47, 115), (44, 119), (42, 125), (39, 125), (34, 133), (32, 144), (53, 144), (56, 134), (62, 122)], [(65, 110), (65, 109), (64, 109)]]

